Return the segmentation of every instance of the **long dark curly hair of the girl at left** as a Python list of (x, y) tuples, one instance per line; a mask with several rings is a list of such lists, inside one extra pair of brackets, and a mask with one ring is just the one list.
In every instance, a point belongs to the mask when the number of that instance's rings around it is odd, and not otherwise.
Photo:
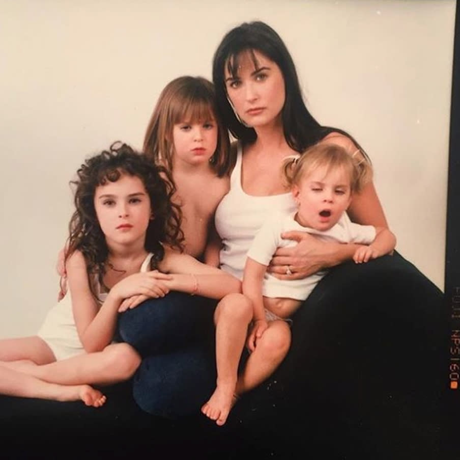
[[(109, 150), (85, 160), (77, 171), (77, 179), (70, 182), (75, 189), (75, 212), (69, 223), (65, 261), (74, 251), (81, 251), (90, 280), (97, 276), (102, 281), (108, 257), (105, 235), (94, 206), (96, 187), (107, 181), (116, 182), (123, 174), (141, 179), (155, 211), (155, 218), (149, 221), (145, 240), (146, 251), (153, 254), (151, 269), (164, 257), (161, 243), (181, 252), (183, 250), (182, 212), (180, 206), (171, 201), (174, 190), (169, 172), (162, 166), (154, 165), (145, 154), (117, 141)], [(90, 282), (90, 286), (93, 290), (93, 283)]]

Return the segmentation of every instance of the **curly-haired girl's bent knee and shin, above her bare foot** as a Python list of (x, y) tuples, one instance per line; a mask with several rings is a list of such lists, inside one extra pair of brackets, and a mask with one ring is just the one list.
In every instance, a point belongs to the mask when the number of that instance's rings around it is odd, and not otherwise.
[(11, 363), (16, 371), (61, 385), (110, 385), (130, 378), (140, 364), (136, 350), (127, 343), (113, 343), (102, 351), (83, 353), (42, 366)]

